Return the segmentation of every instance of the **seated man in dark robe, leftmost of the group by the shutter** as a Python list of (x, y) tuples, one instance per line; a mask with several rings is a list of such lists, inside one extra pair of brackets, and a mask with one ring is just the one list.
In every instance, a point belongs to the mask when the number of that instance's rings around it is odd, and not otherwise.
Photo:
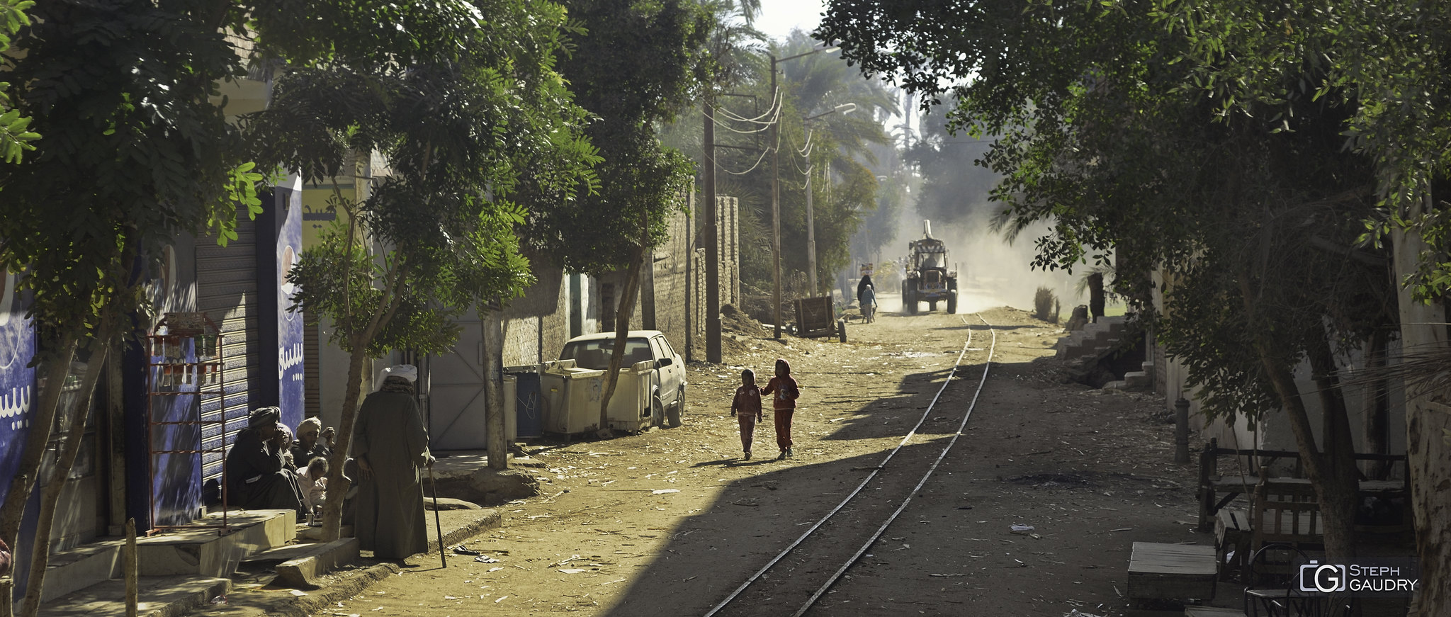
[(244, 510), (302, 510), (297, 476), (286, 467), (277, 420), (281, 409), (264, 406), (247, 418), (247, 428), (226, 454), (228, 504)]

